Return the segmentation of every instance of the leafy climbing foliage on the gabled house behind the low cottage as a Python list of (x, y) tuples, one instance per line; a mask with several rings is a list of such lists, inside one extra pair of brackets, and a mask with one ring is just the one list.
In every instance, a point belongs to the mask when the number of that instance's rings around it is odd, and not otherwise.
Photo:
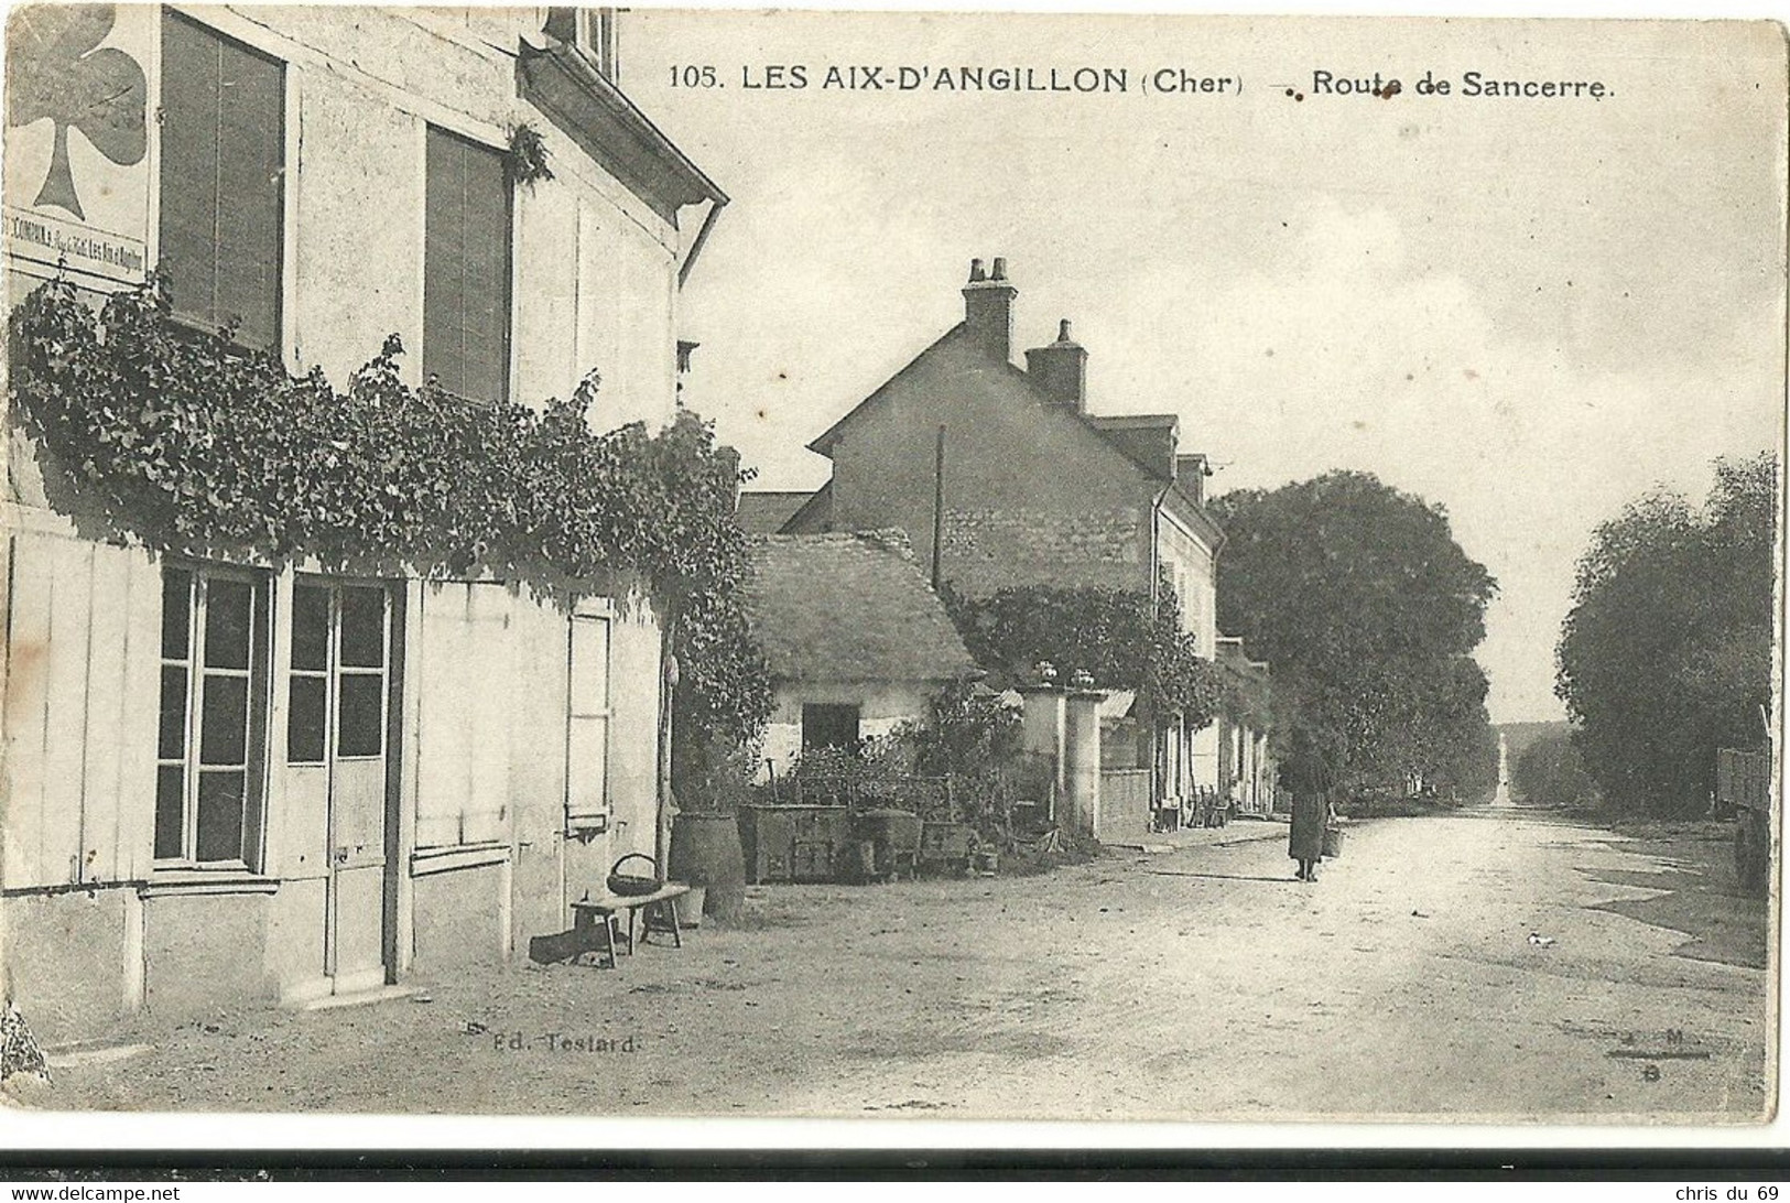
[(1224, 705), (1228, 678), (1181, 630), (1181, 605), (1167, 582), (1155, 603), (1142, 589), (1092, 585), (1010, 585), (970, 598), (945, 582), (940, 594), (970, 655), (1006, 678), (1031, 677), (1038, 661), (1056, 666), (1061, 680), (1087, 670), (1097, 687), (1137, 689), (1196, 729)]

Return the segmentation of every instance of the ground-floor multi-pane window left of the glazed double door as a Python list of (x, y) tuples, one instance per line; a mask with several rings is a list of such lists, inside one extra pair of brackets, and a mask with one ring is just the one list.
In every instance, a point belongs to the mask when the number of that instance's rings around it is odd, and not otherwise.
[(165, 569), (158, 861), (260, 866), (265, 709), (267, 578)]

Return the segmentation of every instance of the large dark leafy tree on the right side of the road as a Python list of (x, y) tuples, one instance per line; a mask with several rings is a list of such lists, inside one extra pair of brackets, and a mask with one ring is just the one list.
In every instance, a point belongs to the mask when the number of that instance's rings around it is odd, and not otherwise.
[(1770, 704), (1777, 460), (1717, 460), (1702, 508), (1650, 492), (1579, 560), (1556, 693), (1613, 806), (1699, 811), (1715, 748), (1763, 738)]

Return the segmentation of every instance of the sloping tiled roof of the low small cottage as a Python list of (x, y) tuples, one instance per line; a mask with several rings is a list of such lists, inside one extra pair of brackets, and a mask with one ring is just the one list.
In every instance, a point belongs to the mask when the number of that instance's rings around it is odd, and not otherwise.
[(943, 682), (976, 662), (900, 532), (752, 541), (752, 628), (782, 680)]

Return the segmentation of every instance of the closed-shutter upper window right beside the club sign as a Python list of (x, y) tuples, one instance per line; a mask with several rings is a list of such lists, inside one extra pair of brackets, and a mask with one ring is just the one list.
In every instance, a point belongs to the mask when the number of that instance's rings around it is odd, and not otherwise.
[(161, 20), (161, 251), (174, 311), (279, 344), (285, 68), (204, 25)]

